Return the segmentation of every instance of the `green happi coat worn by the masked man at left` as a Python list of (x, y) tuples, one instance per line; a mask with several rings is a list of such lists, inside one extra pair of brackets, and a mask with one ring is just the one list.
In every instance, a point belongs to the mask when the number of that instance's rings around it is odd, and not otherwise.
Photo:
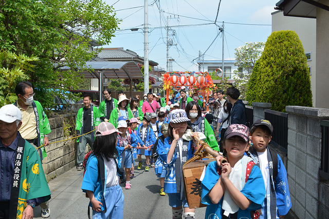
[[(17, 106), (17, 101), (14, 103)], [(39, 101), (33, 101), (32, 103), (33, 111), (36, 119), (36, 132), (38, 133), (38, 147), (44, 144), (45, 134), (51, 132), (48, 117), (43, 111), (43, 108)], [(47, 156), (45, 147), (40, 148), (42, 151), (42, 158)]]

